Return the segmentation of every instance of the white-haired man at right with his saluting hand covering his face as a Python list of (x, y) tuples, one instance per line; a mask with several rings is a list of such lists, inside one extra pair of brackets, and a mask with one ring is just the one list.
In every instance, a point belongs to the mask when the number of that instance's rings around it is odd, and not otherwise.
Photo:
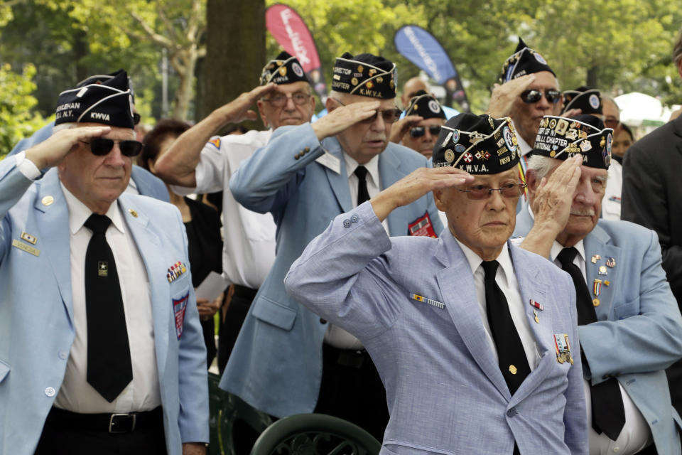
[(682, 318), (656, 232), (599, 218), (612, 131), (593, 115), (542, 119), (515, 233), (573, 279), (590, 454), (679, 455), (665, 369), (682, 356)]

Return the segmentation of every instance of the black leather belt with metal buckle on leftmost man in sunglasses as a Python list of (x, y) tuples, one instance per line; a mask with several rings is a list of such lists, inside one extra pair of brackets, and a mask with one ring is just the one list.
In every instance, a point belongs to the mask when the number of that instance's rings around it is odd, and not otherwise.
[(101, 430), (108, 433), (130, 433), (136, 429), (156, 426), (163, 427), (163, 410), (161, 406), (151, 411), (126, 412), (123, 414), (80, 414), (53, 407), (48, 414), (49, 424), (65, 427)]

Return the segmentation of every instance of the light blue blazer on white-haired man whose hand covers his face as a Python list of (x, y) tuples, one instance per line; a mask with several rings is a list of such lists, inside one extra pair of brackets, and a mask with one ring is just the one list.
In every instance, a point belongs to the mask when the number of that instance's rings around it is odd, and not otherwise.
[[(525, 207), (516, 217), (514, 235), (525, 236), (532, 226)], [(679, 455), (682, 421), (671, 405), (664, 370), (682, 357), (682, 317), (661, 267), (656, 232), (600, 219), (583, 242), (590, 294), (595, 279), (610, 282), (602, 284), (597, 297), (598, 321), (578, 327), (590, 367), (585, 379), (596, 385), (617, 378), (649, 424), (656, 451)], [(592, 263), (593, 255), (601, 259)], [(610, 257), (615, 267), (600, 275), (599, 267)]]

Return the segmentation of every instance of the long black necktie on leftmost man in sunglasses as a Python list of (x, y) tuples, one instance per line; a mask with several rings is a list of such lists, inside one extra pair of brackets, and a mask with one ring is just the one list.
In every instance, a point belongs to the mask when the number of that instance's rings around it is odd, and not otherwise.
[(93, 213), (85, 253), (87, 382), (112, 402), (133, 379), (121, 285), (112, 249), (104, 234), (111, 220)]

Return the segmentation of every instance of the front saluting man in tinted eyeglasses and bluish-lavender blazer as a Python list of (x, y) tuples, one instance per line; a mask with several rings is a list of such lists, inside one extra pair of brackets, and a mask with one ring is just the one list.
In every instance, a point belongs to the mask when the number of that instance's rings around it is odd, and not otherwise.
[[(435, 168), (337, 216), (286, 288), (372, 355), (391, 414), (381, 455), (586, 454), (573, 285), (508, 242), (524, 186), (511, 121), (460, 114), (437, 144)], [(386, 235), (430, 191), (440, 239)]]

